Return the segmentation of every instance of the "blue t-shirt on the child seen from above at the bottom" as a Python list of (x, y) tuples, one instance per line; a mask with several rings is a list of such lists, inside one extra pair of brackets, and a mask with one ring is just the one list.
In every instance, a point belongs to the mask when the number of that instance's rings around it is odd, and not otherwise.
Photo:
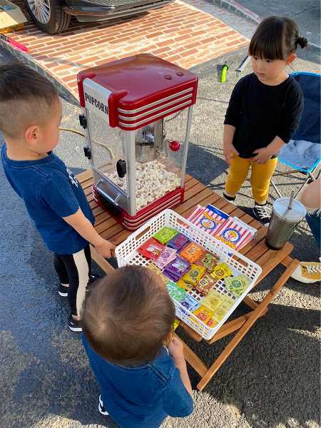
[(121, 428), (158, 428), (165, 417), (193, 412), (193, 399), (168, 351), (148, 365), (121, 367), (103, 360), (83, 335), (83, 346), (101, 390), (103, 406)]

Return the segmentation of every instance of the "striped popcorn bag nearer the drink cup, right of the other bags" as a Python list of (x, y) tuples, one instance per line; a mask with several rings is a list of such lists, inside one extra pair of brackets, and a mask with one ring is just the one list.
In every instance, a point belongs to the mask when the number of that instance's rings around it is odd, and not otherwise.
[(239, 250), (254, 238), (255, 230), (256, 229), (246, 225), (238, 218), (230, 217), (215, 238), (222, 241), (230, 248)]

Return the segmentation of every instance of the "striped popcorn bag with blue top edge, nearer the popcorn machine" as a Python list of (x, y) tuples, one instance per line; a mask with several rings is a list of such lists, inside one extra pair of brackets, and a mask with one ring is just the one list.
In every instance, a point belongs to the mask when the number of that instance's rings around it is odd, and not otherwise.
[(206, 208), (198, 205), (188, 220), (205, 233), (216, 235), (225, 225), (228, 218), (228, 214), (215, 208), (213, 205), (207, 205)]

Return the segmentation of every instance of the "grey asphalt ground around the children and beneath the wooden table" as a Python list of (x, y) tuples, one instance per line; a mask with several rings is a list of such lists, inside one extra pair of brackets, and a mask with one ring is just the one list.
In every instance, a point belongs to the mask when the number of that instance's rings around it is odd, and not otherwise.
[[(0, 62), (6, 61), (2, 55)], [(223, 115), (239, 78), (233, 70), (244, 56), (245, 50), (238, 51), (194, 68), (200, 89), (188, 173), (218, 193), (226, 176)], [(223, 61), (228, 61), (230, 70), (228, 82), (222, 84), (216, 81), (215, 67)], [(294, 68), (318, 71), (314, 61), (313, 55), (300, 59)], [(77, 118), (78, 107), (63, 101), (62, 125), (79, 129)], [(74, 172), (88, 168), (78, 137), (62, 134), (56, 153)], [(301, 179), (298, 175), (286, 180), (282, 190), (288, 193)], [(4, 225), (0, 230), (0, 427), (115, 428), (97, 412), (98, 389), (78, 335), (66, 327), (68, 305), (56, 292), (51, 255), (1, 168), (0, 183)], [(237, 203), (251, 206), (248, 185)], [(295, 257), (317, 260), (318, 250), (305, 223), (292, 242)], [(253, 297), (261, 299), (279, 275), (280, 271), (272, 272)], [(224, 344), (193, 347), (210, 362)], [(204, 392), (194, 392), (193, 415), (183, 421), (168, 419), (163, 428), (320, 427), (319, 355), (320, 286), (290, 280)], [(198, 376), (189, 372), (195, 384)]]

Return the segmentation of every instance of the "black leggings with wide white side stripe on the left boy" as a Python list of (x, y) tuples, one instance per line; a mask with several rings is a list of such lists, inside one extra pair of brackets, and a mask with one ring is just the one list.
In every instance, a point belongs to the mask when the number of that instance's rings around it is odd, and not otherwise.
[(61, 284), (68, 285), (68, 301), (72, 315), (80, 315), (89, 275), (91, 275), (89, 244), (78, 253), (54, 253), (54, 267)]

